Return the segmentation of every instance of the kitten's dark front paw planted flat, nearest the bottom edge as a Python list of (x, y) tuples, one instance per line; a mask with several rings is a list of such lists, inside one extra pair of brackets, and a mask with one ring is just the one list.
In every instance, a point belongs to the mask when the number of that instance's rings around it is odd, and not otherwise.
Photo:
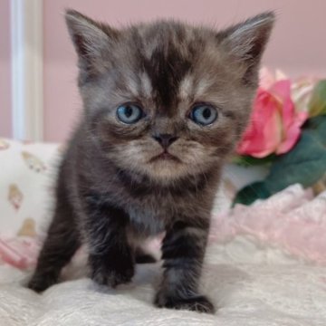
[(191, 312), (216, 312), (213, 303), (210, 302), (204, 295), (197, 295), (189, 298), (179, 298), (158, 292), (154, 303), (156, 306), (158, 306), (158, 308), (188, 310)]

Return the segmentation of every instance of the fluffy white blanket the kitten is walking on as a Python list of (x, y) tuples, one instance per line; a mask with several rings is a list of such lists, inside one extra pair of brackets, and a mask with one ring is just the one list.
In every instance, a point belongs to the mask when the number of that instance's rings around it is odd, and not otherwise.
[[(244, 252), (254, 255), (254, 264), (238, 259)], [(326, 267), (262, 250), (245, 237), (208, 249), (202, 287), (218, 308), (215, 315), (155, 308), (159, 264), (139, 265), (133, 283), (117, 290), (78, 278), (84, 268), (74, 268), (74, 280), (39, 295), (21, 285), (25, 273), (0, 266), (0, 325), (326, 325)]]

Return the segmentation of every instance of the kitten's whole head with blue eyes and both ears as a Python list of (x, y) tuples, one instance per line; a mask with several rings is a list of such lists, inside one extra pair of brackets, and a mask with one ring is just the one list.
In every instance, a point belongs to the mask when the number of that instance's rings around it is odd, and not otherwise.
[(86, 128), (119, 168), (170, 181), (205, 172), (234, 149), (273, 13), (220, 32), (175, 21), (117, 30), (71, 10), (66, 20)]

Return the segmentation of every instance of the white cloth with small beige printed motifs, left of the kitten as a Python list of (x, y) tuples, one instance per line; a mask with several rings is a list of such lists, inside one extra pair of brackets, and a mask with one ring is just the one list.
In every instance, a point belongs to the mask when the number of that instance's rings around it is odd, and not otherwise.
[(42, 233), (60, 151), (57, 144), (0, 139), (0, 235)]

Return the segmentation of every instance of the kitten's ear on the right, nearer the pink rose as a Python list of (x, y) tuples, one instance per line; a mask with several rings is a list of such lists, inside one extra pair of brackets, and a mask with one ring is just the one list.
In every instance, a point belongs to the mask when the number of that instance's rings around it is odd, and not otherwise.
[(231, 51), (245, 68), (244, 81), (255, 83), (264, 48), (271, 34), (275, 14), (258, 14), (244, 23), (235, 24), (217, 34), (220, 44)]

